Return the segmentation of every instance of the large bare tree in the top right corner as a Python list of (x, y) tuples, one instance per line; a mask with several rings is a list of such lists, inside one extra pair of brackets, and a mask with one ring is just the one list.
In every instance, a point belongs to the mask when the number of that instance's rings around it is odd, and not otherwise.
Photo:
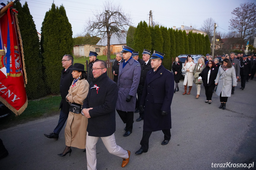
[(235, 15), (230, 19), (229, 30), (239, 33), (244, 40), (256, 36), (256, 5), (254, 3), (240, 4), (231, 12)]

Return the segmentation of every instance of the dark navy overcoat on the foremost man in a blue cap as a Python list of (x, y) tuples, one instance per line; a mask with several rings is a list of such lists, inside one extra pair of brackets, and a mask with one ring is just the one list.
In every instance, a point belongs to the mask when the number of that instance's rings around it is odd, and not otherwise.
[[(171, 129), (171, 101), (174, 94), (174, 76), (169, 70), (160, 65), (147, 72), (140, 105), (144, 110), (144, 131), (159, 131)], [(162, 117), (161, 110), (168, 112)]]

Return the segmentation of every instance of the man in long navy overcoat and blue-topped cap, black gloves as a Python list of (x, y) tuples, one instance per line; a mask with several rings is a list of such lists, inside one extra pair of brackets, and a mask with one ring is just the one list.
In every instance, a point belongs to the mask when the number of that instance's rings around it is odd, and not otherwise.
[(149, 137), (153, 131), (163, 131), (162, 145), (168, 144), (171, 139), (171, 102), (174, 94), (174, 76), (163, 67), (163, 56), (163, 53), (154, 51), (150, 58), (152, 69), (147, 72), (140, 102), (141, 110), (143, 110), (143, 106), (145, 107), (141, 148), (136, 154), (148, 151)]

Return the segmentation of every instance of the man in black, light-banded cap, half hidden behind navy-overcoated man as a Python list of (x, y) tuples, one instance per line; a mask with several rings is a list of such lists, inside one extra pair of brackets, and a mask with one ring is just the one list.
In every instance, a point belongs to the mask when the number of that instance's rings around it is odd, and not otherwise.
[[(150, 50), (144, 49), (142, 52), (142, 59), (143, 63), (140, 64), (141, 66), (141, 73), (140, 73), (140, 80), (139, 80), (139, 86), (137, 89), (137, 94), (138, 94), (138, 103), (141, 101), (141, 96), (146, 80), (146, 75), (149, 70), (151, 70), (151, 61), (150, 61)], [(141, 121), (144, 119), (144, 111), (139, 110), (139, 118), (136, 119), (136, 121)]]

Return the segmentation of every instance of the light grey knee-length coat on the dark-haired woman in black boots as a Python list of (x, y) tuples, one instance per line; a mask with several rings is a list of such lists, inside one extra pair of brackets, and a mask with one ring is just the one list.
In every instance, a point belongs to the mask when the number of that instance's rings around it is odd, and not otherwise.
[[(218, 83), (216, 94), (221, 97), (230, 97), (232, 86), (236, 86), (236, 71), (234, 66), (224, 71), (220, 66), (215, 83)], [(232, 85), (233, 83), (233, 85)]]

